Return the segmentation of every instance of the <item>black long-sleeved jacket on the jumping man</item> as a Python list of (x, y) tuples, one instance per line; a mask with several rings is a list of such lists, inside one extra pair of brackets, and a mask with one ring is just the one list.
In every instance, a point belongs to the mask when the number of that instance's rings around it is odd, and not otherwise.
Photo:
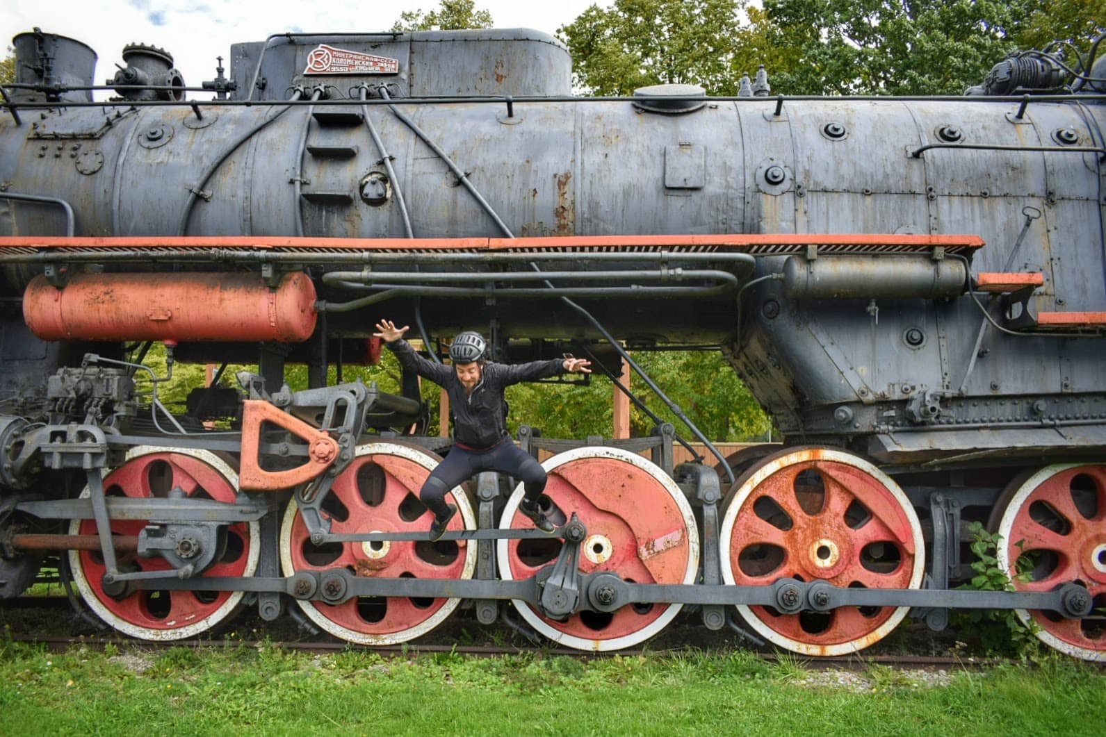
[(480, 381), (468, 394), (452, 366), (422, 358), (403, 339), (385, 345), (405, 369), (446, 390), (453, 419), (453, 440), (469, 448), (491, 448), (507, 436), (504, 389), (520, 381), (546, 379), (564, 372), (564, 359), (561, 358), (518, 365), (489, 362), (481, 367)]

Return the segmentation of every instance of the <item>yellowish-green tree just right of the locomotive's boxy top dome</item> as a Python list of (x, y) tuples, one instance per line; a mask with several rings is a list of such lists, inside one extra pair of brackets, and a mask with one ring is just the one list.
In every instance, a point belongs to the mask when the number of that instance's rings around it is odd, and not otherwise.
[[(740, 74), (755, 70), (758, 51), (739, 22), (747, 0), (615, 0), (591, 6), (557, 29), (568, 46), (576, 86), (596, 95), (628, 95), (653, 84), (698, 84), (737, 94)], [(755, 10), (755, 9), (750, 9)]]

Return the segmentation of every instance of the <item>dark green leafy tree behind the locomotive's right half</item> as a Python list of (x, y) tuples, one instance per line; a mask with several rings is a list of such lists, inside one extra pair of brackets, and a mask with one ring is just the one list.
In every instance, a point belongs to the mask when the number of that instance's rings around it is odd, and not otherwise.
[(790, 60), (773, 83), (785, 94), (958, 95), (1051, 1), (764, 0)]

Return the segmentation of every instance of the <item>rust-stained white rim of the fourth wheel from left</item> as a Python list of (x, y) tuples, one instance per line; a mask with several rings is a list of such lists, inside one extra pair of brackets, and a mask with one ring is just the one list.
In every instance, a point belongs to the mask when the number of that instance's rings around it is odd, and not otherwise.
[[(781, 455), (773, 460), (772, 462), (759, 468), (750, 478), (741, 485), (738, 489), (733, 499), (730, 502), (729, 506), (726, 508), (726, 514), (722, 516), (721, 520), (721, 536), (719, 539), (719, 550), (721, 551), (721, 564), (722, 564), (722, 580), (726, 583), (734, 585), (737, 582), (737, 577), (733, 575), (733, 564), (730, 560), (730, 546), (733, 543), (733, 526), (737, 522), (738, 512), (741, 509), (745, 499), (749, 495), (769, 476), (781, 471), (782, 468), (790, 466), (794, 463), (806, 462), (807, 459), (805, 451), (796, 451), (794, 453), (787, 453)], [(921, 536), (921, 525), (918, 520), (918, 515), (915, 514), (914, 507), (910, 505), (910, 499), (907, 498), (902, 489), (899, 488), (891, 478), (885, 474), (883, 471), (868, 463), (862, 457), (855, 456), (851, 453), (844, 453), (842, 451), (834, 451), (830, 449), (820, 449), (818, 457), (826, 461), (836, 461), (838, 463), (844, 463), (846, 465), (852, 465), (857, 467), (865, 473), (872, 475), (876, 481), (884, 485), (887, 491), (891, 493), (895, 499), (899, 503), (899, 506), (906, 514), (906, 517), (910, 524), (910, 535), (914, 539), (915, 545), (915, 561), (914, 570), (910, 575), (909, 588), (917, 589), (921, 586), (922, 577), (926, 572), (926, 547), (925, 540)], [(789, 551), (793, 552), (793, 551)], [(780, 647), (785, 647), (792, 652), (801, 653), (803, 655), (813, 656), (831, 656), (831, 655), (844, 655), (848, 653), (858, 652), (868, 647), (883, 638), (885, 638), (889, 632), (891, 632), (899, 622), (907, 615), (910, 611), (909, 607), (898, 607), (887, 619), (886, 622), (880, 624), (878, 628), (864, 635), (857, 640), (852, 640), (848, 642), (842, 642), (836, 644), (813, 644), (807, 642), (802, 642), (793, 638), (789, 638), (780, 632), (776, 632), (768, 624), (765, 624), (760, 617), (753, 612), (751, 607), (745, 604), (738, 604), (738, 611), (741, 617), (748, 622), (758, 634), (763, 636), (765, 640)]]

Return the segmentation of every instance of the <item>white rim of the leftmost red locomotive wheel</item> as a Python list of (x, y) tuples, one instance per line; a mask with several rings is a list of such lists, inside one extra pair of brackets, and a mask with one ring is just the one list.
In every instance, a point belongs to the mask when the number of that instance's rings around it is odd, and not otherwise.
[[(204, 461), (211, 467), (213, 467), (221, 476), (223, 476), (230, 484), (231, 488), (238, 488), (238, 474), (231, 470), (227, 462), (215, 455), (209, 451), (202, 450), (191, 450), (191, 449), (175, 449), (175, 448), (157, 448), (154, 445), (136, 445), (132, 448), (126, 455), (126, 461), (132, 461), (134, 459), (142, 457), (144, 455), (150, 455), (154, 453), (177, 453), (180, 455), (188, 455), (194, 459)], [(105, 476), (107, 474), (104, 474)], [(81, 492), (81, 498), (88, 498), (92, 496), (92, 492), (87, 486)], [(82, 519), (73, 519), (70, 522), (70, 535), (77, 535), (80, 533)], [(242, 578), (248, 578), (253, 576), (258, 568), (258, 560), (261, 556), (261, 544), (260, 544), (260, 527), (258, 522), (251, 520), (249, 523), (250, 530), (250, 546), (249, 554), (246, 561), (246, 569), (242, 571)], [(76, 583), (77, 590), (81, 592), (81, 598), (88, 608), (96, 613), (96, 615), (103, 621), (107, 622), (113, 629), (122, 632), (123, 634), (129, 635), (132, 638), (138, 638), (139, 640), (153, 640), (153, 641), (173, 641), (173, 640), (186, 640), (188, 638), (195, 636), (201, 632), (210, 630), (217, 625), (222, 620), (227, 619), (232, 614), (241, 602), (242, 597), (246, 596), (244, 591), (231, 591), (230, 596), (227, 598), (218, 609), (211, 614), (208, 614), (204, 619), (192, 622), (191, 624), (186, 624), (184, 627), (158, 630), (154, 628), (140, 627), (128, 622), (125, 619), (119, 618), (112, 610), (104, 607), (101, 603), (100, 598), (96, 596), (92, 586), (88, 585), (88, 579), (84, 575), (84, 569), (81, 565), (80, 550), (69, 551), (70, 570), (73, 573), (73, 582)], [(202, 577), (196, 578), (194, 580), (200, 581)]]

